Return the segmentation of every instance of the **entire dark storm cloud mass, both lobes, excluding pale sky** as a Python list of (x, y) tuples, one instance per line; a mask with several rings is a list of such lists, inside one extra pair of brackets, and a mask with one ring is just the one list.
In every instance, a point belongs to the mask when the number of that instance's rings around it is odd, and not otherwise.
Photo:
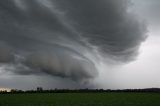
[[(132, 60), (145, 25), (128, 0), (1, 0), (0, 63), (5, 72), (73, 80), (98, 75), (98, 57)], [(97, 56), (98, 55), (98, 56)]]

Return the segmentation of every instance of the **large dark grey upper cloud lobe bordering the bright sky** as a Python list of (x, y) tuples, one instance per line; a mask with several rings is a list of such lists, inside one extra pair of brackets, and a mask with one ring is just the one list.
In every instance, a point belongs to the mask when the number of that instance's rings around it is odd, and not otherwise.
[[(130, 58), (146, 38), (145, 25), (127, 13), (126, 0), (58, 1), (81, 36), (104, 53)], [(137, 48), (136, 48), (137, 49)]]

